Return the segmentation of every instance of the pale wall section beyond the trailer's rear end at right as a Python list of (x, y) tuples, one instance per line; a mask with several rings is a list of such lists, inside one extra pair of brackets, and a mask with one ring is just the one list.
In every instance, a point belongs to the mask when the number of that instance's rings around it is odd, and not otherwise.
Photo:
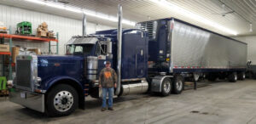
[(256, 65), (256, 36), (233, 38), (241, 42), (247, 42), (247, 60), (251, 60), (252, 65)]

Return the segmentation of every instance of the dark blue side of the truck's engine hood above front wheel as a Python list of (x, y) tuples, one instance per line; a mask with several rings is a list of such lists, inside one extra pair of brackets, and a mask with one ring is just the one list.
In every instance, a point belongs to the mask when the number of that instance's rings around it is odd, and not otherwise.
[[(82, 81), (84, 74), (84, 56), (73, 55), (38, 55), (38, 77), (42, 82), (57, 76), (67, 76)], [(45, 83), (42, 87), (47, 87)]]

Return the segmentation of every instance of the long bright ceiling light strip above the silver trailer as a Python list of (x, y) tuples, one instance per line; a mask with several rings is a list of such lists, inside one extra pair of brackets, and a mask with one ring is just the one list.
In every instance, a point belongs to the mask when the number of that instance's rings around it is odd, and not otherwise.
[(178, 7), (177, 5), (175, 5), (173, 3), (169, 3), (166, 0), (150, 0), (150, 1), (153, 2), (153, 3), (157, 3), (161, 6), (164, 6), (166, 8), (170, 8), (170, 9), (176, 11), (179, 14), (182, 14), (182, 15), (185, 15), (186, 17), (189, 17), (192, 20), (196, 20), (196, 21), (199, 21), (203, 24), (210, 25), (213, 28), (218, 29), (219, 31), (224, 31), (226, 33), (229, 33), (229, 34), (232, 34), (232, 35), (235, 35), (235, 36), (238, 34), (236, 31), (230, 30), (229, 28), (226, 28), (222, 25), (218, 25), (217, 23), (215, 23), (211, 20), (207, 20), (207, 19), (201, 17), (198, 14), (194, 14), (194, 13), (190, 12), (189, 10)]

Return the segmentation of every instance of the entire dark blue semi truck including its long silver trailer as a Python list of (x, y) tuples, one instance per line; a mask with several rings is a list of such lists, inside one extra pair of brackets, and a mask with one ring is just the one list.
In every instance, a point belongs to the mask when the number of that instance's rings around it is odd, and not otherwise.
[(98, 74), (106, 61), (119, 74), (116, 96), (182, 93), (184, 78), (236, 82), (247, 63), (246, 43), (174, 18), (72, 37), (66, 47), (62, 56), (18, 56), (10, 101), (67, 116), (86, 106), (86, 96), (101, 98)]

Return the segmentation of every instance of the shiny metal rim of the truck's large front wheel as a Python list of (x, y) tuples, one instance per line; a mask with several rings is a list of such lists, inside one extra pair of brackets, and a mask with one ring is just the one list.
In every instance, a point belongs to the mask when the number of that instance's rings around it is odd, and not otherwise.
[(68, 91), (56, 93), (54, 105), (55, 109), (61, 112), (70, 110), (73, 105), (73, 94)]

